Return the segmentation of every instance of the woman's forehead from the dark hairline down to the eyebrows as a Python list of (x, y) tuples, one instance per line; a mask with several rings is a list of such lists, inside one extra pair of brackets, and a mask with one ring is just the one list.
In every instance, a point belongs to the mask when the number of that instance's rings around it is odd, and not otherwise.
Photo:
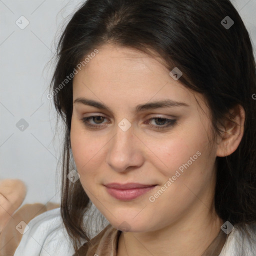
[(196, 93), (174, 80), (159, 57), (112, 44), (97, 50), (74, 76), (73, 97), (89, 94), (104, 102), (106, 97), (111, 103), (118, 98), (118, 103), (122, 100), (123, 104), (134, 105), (167, 98), (196, 104)]

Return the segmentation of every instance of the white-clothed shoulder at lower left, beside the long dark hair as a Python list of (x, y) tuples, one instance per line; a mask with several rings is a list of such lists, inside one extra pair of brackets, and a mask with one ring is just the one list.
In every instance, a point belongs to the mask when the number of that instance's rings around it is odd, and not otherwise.
[(72, 253), (74, 251), (61, 220), (60, 208), (55, 208), (27, 223), (14, 256), (62, 256)]

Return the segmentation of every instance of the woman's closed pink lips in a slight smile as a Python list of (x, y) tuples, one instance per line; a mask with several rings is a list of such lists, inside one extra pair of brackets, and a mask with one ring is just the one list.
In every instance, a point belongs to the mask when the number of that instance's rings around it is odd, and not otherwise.
[(119, 183), (109, 183), (106, 184), (107, 192), (119, 200), (132, 200), (136, 197), (146, 193), (147, 191), (151, 190), (156, 185), (150, 184), (139, 184), (139, 183), (126, 183), (126, 184), (119, 184)]

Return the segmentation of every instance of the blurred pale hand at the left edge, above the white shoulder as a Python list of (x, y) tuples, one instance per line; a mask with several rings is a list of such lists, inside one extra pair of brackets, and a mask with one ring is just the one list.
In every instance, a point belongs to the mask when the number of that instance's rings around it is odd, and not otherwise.
[(21, 205), (26, 195), (26, 186), (19, 179), (0, 179), (0, 232)]

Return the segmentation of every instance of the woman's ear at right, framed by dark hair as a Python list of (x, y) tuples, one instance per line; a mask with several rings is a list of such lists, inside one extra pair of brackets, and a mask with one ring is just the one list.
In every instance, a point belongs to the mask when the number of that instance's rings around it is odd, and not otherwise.
[(245, 111), (237, 104), (229, 111), (229, 120), (224, 120), (224, 131), (218, 140), (217, 156), (227, 156), (238, 147), (244, 131)]

